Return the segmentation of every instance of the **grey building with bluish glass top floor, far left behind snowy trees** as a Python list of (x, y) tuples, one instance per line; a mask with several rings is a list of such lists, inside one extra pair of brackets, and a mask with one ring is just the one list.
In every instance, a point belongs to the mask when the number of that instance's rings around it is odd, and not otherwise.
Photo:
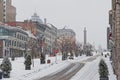
[(0, 25), (0, 57), (23, 56), (28, 34), (18, 27)]

